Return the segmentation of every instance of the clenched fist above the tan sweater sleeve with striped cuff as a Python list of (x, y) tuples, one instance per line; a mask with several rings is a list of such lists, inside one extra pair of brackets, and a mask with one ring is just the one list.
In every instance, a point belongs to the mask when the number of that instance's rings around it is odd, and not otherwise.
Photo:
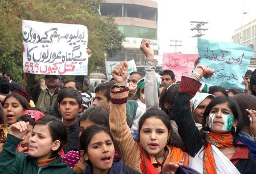
[(116, 85), (124, 86), (128, 76), (128, 64), (127, 62), (120, 62), (111, 71), (111, 75), (116, 81)]

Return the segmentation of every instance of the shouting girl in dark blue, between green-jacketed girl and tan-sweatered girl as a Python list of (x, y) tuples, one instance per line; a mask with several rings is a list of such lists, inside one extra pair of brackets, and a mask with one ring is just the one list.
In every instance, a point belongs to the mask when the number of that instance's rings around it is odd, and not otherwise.
[(89, 126), (80, 136), (80, 154), (87, 164), (82, 174), (139, 174), (114, 160), (115, 147), (109, 130), (101, 125)]

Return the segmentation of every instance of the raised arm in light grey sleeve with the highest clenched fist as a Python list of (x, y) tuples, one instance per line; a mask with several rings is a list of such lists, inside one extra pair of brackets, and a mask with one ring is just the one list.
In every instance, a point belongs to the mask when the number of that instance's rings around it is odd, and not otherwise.
[(147, 109), (160, 109), (158, 100), (156, 68), (157, 60), (154, 59), (154, 51), (150, 47), (150, 40), (143, 39), (140, 50), (145, 54), (145, 104)]

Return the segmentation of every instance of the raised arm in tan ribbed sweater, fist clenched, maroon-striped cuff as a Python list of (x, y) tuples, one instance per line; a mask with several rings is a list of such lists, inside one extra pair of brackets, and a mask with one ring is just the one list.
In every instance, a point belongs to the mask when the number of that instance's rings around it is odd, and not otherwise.
[[(116, 80), (116, 85), (125, 86), (125, 81), (128, 76), (128, 64), (120, 62), (111, 72)], [(131, 135), (129, 126), (126, 123), (126, 102), (128, 100), (129, 88), (112, 87), (111, 88), (111, 104), (109, 125), (111, 135), (113, 136), (116, 149), (120, 157), (123, 158), (126, 166), (131, 166), (134, 162), (134, 157), (140, 155), (140, 149)]]

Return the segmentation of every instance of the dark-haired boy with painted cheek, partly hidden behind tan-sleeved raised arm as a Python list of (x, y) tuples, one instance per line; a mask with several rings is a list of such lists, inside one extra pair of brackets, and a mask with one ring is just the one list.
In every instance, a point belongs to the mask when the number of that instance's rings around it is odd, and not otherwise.
[(110, 104), (110, 88), (115, 84), (113, 81), (108, 81), (106, 83), (99, 84), (95, 89), (95, 100), (93, 101), (93, 106), (101, 107), (102, 109), (108, 111), (108, 105)]

